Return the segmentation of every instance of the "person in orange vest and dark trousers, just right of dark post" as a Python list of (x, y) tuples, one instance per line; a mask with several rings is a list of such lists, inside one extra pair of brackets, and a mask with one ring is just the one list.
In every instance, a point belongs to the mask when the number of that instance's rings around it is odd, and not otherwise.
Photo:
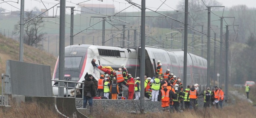
[(188, 96), (188, 98), (190, 98), (189, 99), (189, 101), (190, 101), (190, 108), (191, 109), (194, 108), (194, 110), (196, 110), (197, 109), (196, 108), (196, 104), (197, 104), (196, 100), (197, 100), (197, 96), (198, 96), (198, 91), (197, 91), (197, 89), (195, 88), (194, 85), (192, 86), (192, 88), (190, 88), (189, 93), (188, 93), (187, 96)]

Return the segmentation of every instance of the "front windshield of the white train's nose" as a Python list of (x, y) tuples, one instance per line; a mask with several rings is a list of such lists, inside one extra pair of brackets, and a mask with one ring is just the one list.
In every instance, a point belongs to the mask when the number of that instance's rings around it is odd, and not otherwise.
[(79, 68), (82, 56), (65, 57), (65, 68)]

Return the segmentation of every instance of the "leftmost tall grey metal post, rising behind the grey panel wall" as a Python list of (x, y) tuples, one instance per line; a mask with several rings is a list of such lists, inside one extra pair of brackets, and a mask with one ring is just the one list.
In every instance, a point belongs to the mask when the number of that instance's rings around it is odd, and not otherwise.
[(24, 42), (24, 1), (20, 1), (20, 61), (23, 62), (23, 42)]

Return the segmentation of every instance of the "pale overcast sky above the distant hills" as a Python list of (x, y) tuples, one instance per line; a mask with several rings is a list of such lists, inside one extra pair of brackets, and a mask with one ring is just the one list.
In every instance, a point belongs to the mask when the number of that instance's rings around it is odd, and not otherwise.
[[(5, 0), (7, 1), (7, 0)], [(6, 12), (9, 11), (15, 11), (20, 9), (20, 0), (8, 0), (8, 1), (13, 1), (13, 2), (8, 2), (3, 3), (3, 0), (0, 0), (0, 8), (5, 9)], [(17, 2), (15, 3), (15, 2)], [(41, 2), (41, 0), (25, 0), (25, 10), (31, 10), (34, 7), (37, 7), (39, 9), (49, 9), (51, 8), (54, 4), (58, 3), (59, 1), (56, 0), (42, 0), (44, 4)], [(130, 6), (125, 0), (103, 0), (103, 2), (99, 0), (66, 0), (66, 6), (74, 6), (76, 7), (75, 10), (77, 9), (77, 3), (80, 4), (114, 4), (116, 7), (116, 11), (121, 11), (124, 8), (127, 8)], [(84, 2), (87, 1), (87, 2)], [(141, 4), (141, 0), (131, 0), (134, 3)], [(146, 0), (146, 7), (152, 10), (175, 10), (176, 5), (178, 4), (179, 1), (181, 0), (166, 0), (165, 4), (161, 5), (162, 2), (165, 0)], [(203, 0), (205, 1), (205, 0)], [(235, 5), (246, 5), (249, 8), (256, 7), (256, 0), (217, 0), (218, 2), (222, 3), (223, 6), (225, 7), (232, 7)], [(83, 2), (83, 3), (81, 3)], [(59, 5), (58, 5), (59, 6)], [(15, 8), (16, 7), (16, 8)], [(129, 7), (126, 10), (126, 12), (131, 12), (131, 11), (138, 11), (139, 9), (137, 7)], [(69, 10), (67, 10), (68, 13)], [(56, 12), (56, 8), (54, 11), (49, 10), (49, 14), (52, 14), (53, 12)], [(57, 11), (58, 14), (59, 11)], [(55, 13), (54, 13), (55, 14)]]

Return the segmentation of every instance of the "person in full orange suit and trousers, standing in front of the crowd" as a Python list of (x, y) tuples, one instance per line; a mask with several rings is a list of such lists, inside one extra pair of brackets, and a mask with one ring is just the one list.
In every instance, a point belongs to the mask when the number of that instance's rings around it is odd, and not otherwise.
[(169, 104), (173, 104), (173, 96), (175, 96), (175, 94), (170, 89), (167, 89), (167, 84), (164, 84), (160, 94), (163, 111), (169, 111)]

